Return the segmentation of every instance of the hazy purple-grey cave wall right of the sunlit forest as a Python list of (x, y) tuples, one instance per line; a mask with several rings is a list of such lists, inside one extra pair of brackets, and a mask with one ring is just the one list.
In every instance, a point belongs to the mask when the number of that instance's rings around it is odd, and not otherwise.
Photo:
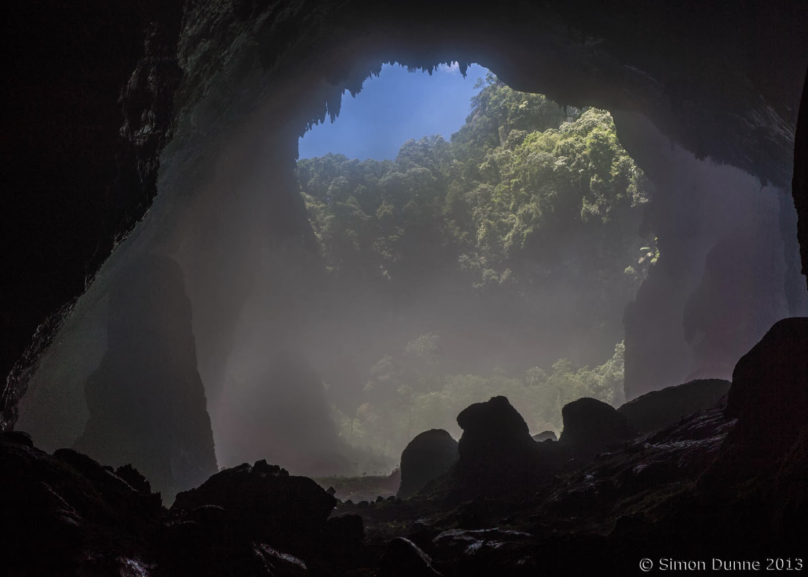
[(642, 229), (658, 237), (660, 251), (625, 310), (626, 398), (694, 378), (730, 379), (774, 322), (808, 310), (802, 276), (789, 266), (799, 259), (790, 195), (699, 160), (642, 115), (614, 116), (618, 137), (654, 183)]

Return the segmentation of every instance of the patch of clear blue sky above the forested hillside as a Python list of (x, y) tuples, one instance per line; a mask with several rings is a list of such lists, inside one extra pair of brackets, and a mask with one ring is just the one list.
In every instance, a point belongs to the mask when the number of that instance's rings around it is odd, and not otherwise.
[(465, 123), (469, 99), (478, 78), (488, 69), (471, 65), (466, 77), (457, 63), (441, 65), (430, 76), (400, 65), (385, 64), (378, 77), (364, 81), (362, 91), (343, 94), (342, 109), (334, 124), (329, 118), (300, 139), (300, 158), (329, 152), (348, 158), (396, 158), (410, 138), (441, 134), (448, 140)]

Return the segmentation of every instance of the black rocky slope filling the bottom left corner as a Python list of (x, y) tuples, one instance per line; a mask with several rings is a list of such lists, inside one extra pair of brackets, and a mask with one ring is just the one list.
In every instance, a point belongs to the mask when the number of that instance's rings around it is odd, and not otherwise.
[(3, 575), (127, 575), (158, 558), (160, 495), (71, 449), (0, 434)]

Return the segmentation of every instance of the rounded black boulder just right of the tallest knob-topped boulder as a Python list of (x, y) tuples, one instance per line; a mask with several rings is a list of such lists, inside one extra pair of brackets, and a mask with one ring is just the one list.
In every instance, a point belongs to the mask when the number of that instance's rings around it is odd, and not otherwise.
[(595, 398), (568, 402), (561, 414), (564, 430), (558, 443), (579, 452), (597, 452), (638, 435), (628, 419)]

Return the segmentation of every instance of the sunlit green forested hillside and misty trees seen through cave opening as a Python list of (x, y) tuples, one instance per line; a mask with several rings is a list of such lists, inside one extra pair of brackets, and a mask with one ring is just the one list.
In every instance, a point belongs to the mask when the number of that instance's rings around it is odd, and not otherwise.
[[(608, 112), (491, 74), (477, 87), (451, 141), (406, 141), (395, 161), (298, 162), (330, 282), (356, 301), (431, 307), (414, 323), (429, 331), (369, 363), (356, 409), (335, 409), (345, 440), (393, 458), (427, 428), (457, 436), (457, 413), (495, 394), (532, 432), (560, 431), (575, 398), (620, 404), (622, 311), (659, 257), (638, 234), (650, 185)], [(494, 345), (506, 360), (474, 364)]]

